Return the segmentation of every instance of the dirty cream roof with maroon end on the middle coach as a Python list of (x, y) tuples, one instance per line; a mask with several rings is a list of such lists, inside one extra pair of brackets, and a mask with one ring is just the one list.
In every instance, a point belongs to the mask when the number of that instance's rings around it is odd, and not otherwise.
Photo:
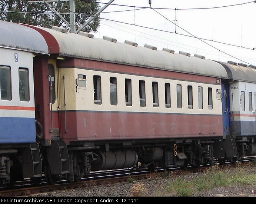
[[(145, 45), (137, 46), (136, 43), (126, 41), (120, 43), (116, 39), (103, 37), (94, 38), (92, 34), (79, 32), (67, 33), (65, 29), (41, 28), (37, 30), (46, 38), (50, 50), (59, 46), (60, 56), (89, 58), (113, 63), (132, 64), (142, 67), (153, 67), (165, 70), (193, 73), (204, 76), (227, 78), (223, 66), (202, 56), (187, 56), (187, 53), (172, 53), (169, 49), (156, 50), (156, 47)], [(50, 34), (50, 36), (49, 36)], [(53, 38), (56, 40), (54, 42)], [(52, 47), (51, 47), (52, 46)]]

